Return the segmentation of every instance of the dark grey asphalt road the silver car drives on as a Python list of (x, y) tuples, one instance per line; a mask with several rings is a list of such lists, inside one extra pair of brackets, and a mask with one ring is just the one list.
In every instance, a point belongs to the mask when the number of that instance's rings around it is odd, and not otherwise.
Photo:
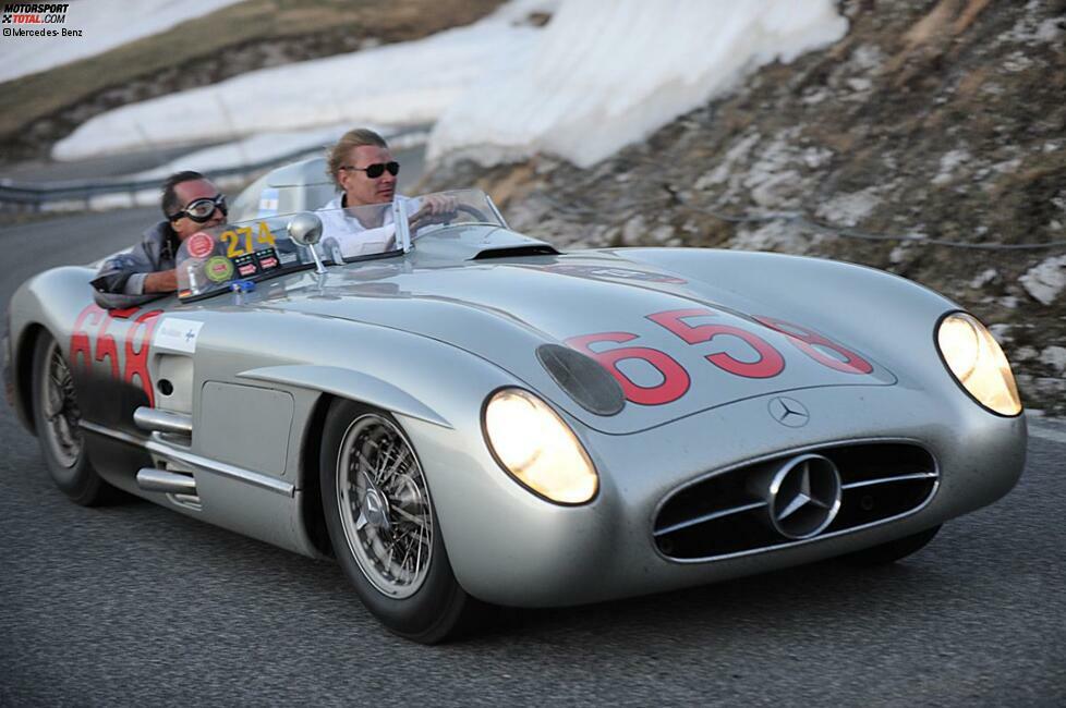
[[(0, 230), (0, 303), (130, 243), (150, 210)], [(1066, 425), (894, 566), (835, 563), (589, 608), (462, 643), (380, 628), (340, 569), (147, 502), (83, 509), (0, 406), (0, 705), (1066, 704)]]

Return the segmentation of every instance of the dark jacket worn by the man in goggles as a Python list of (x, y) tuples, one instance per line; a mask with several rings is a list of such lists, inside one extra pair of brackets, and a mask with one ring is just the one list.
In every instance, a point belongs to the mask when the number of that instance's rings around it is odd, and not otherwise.
[(178, 246), (178, 234), (169, 221), (160, 221), (145, 231), (141, 243), (111, 256), (100, 266), (93, 280), (96, 304), (108, 308), (133, 307), (159, 297), (161, 293), (144, 292), (144, 279), (148, 273), (171, 270)]

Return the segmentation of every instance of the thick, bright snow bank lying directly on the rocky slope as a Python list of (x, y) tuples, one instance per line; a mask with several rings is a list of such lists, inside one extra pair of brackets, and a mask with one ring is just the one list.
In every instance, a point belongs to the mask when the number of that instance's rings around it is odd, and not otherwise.
[(547, 151), (587, 167), (759, 66), (843, 37), (832, 0), (568, 0), (532, 51), (444, 113), (429, 160)]

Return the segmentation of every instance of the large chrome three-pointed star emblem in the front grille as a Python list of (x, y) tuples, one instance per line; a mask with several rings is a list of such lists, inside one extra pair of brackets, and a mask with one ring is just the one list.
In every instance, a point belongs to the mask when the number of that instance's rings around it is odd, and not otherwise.
[(822, 455), (799, 455), (786, 462), (767, 491), (770, 522), (788, 538), (821, 533), (840, 510), (840, 474)]

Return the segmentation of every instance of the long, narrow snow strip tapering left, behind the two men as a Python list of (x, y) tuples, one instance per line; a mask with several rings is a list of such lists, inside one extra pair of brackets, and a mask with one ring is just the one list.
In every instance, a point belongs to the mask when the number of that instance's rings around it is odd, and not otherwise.
[(517, 0), (467, 27), (416, 41), (261, 70), (102, 113), (56, 144), (74, 160), (339, 123), (425, 124), (487, 71), (512, 72), (536, 27), (516, 24), (555, 2)]

